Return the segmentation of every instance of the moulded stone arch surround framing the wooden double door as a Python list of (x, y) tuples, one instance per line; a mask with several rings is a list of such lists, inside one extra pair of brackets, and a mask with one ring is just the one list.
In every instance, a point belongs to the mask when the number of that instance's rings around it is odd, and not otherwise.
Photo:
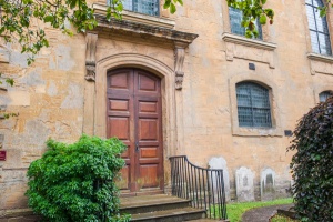
[[(85, 82), (83, 132), (107, 137), (107, 73), (119, 68), (139, 68), (161, 78), (164, 161), (176, 154), (178, 117), (174, 71), (160, 60), (138, 53), (119, 53), (97, 61), (95, 82)], [(164, 164), (165, 165), (165, 164)]]

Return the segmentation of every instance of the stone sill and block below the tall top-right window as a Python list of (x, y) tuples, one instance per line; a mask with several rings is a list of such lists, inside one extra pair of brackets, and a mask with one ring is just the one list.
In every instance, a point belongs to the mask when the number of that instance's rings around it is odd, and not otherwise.
[(309, 53), (311, 74), (332, 74), (333, 75), (333, 57)]

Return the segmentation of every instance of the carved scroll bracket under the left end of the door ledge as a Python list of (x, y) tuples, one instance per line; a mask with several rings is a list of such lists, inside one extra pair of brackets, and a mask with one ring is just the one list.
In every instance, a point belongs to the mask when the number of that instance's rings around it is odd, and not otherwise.
[(95, 81), (95, 49), (97, 49), (98, 34), (88, 33), (85, 37), (87, 50), (85, 50), (85, 80)]

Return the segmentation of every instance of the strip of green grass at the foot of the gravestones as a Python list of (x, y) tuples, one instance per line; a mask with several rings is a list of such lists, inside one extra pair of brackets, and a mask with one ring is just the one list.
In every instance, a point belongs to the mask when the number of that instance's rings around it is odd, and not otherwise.
[(293, 199), (289, 198), (289, 199), (279, 199), (279, 200), (268, 201), (268, 202), (229, 203), (226, 204), (228, 219), (230, 220), (230, 222), (240, 222), (242, 219), (242, 214), (245, 211), (249, 211), (251, 209), (269, 206), (269, 205), (289, 204), (292, 202)]

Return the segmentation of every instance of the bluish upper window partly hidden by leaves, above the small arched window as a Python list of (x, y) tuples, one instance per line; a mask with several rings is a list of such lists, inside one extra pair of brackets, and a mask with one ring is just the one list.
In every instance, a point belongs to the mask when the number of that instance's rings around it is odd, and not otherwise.
[[(245, 36), (245, 28), (242, 27), (243, 12), (241, 10), (229, 7), (229, 18), (230, 18), (230, 27), (231, 33)], [(262, 39), (262, 29), (259, 20), (255, 20), (255, 26), (258, 28), (258, 39)]]

